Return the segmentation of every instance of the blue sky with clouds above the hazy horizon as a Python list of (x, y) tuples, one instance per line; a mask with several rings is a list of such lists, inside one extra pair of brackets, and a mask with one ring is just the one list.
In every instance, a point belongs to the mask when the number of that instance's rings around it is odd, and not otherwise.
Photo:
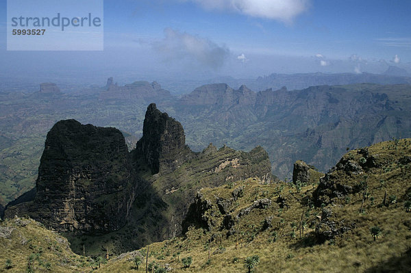
[(7, 51), (1, 0), (0, 76), (160, 81), (388, 66), (411, 73), (410, 10), (409, 0), (105, 0), (103, 51)]

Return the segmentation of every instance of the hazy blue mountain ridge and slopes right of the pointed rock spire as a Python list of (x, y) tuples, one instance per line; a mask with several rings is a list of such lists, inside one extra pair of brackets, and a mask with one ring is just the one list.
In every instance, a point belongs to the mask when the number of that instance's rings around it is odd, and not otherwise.
[(409, 85), (356, 84), (253, 92), (212, 84), (183, 96), (173, 109), (192, 148), (259, 144), (283, 179), (298, 159), (325, 171), (347, 148), (410, 137), (410, 91)]

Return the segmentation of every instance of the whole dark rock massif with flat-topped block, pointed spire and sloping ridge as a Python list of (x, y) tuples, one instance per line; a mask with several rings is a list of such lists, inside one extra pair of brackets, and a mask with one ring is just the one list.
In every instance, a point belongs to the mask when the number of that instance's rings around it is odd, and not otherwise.
[[(277, 180), (261, 146), (247, 153), (210, 144), (192, 152), (182, 125), (154, 103), (147, 107), (142, 131), (129, 152), (118, 129), (57, 122), (47, 134), (36, 188), (9, 203), (5, 217), (29, 216), (77, 237), (87, 233), (95, 244), (89, 248), (96, 249), (102, 237), (95, 231), (101, 236), (127, 231), (127, 237), (110, 239), (113, 251), (123, 252), (180, 235), (202, 187), (249, 177), (265, 184)], [(75, 242), (72, 246), (79, 252)]]

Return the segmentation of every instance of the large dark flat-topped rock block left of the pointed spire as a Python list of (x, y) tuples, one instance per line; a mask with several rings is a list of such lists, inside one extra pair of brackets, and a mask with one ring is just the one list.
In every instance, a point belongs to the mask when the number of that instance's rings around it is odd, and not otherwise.
[(112, 231), (125, 224), (136, 178), (121, 132), (57, 122), (47, 134), (36, 196), (8, 207), (5, 217), (28, 214), (60, 231)]

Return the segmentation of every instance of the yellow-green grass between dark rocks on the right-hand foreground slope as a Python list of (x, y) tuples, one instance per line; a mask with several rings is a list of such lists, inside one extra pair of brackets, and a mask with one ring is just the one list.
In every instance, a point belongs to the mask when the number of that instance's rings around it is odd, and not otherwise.
[[(253, 200), (270, 198), (273, 203), (268, 209), (254, 209), (247, 216), (240, 218), (238, 224), (242, 246), (236, 250), (236, 236), (225, 237), (226, 230), (220, 231), (219, 224), (212, 231), (200, 229), (190, 230), (186, 238), (175, 238), (165, 242), (151, 244), (149, 262), (157, 261), (169, 266), (176, 272), (246, 272), (243, 261), (251, 255), (260, 256), (260, 264), (256, 272), (406, 272), (411, 270), (411, 220), (410, 213), (404, 209), (404, 202), (410, 194), (411, 181), (410, 163), (406, 166), (397, 164), (399, 157), (411, 156), (411, 140), (382, 142), (369, 148), (370, 155), (379, 155), (384, 165), (382, 168), (370, 169), (368, 174), (369, 198), (364, 203), (364, 212), (359, 209), (362, 194), (350, 194), (334, 200), (327, 208), (332, 209), (332, 220), (353, 222), (355, 229), (344, 233), (341, 237), (324, 244), (314, 244), (314, 226), (316, 216), (321, 215), (321, 208), (308, 209), (301, 205), (305, 196), (312, 196), (315, 185), (302, 187), (297, 192), (296, 187), (288, 184), (262, 185), (256, 179), (238, 181), (234, 187), (245, 186), (245, 194), (233, 203), (232, 209), (236, 214), (240, 209), (249, 207)], [(360, 159), (357, 151), (351, 151), (347, 157)], [(408, 166), (408, 168), (407, 168)], [(340, 174), (339, 179), (346, 179), (347, 184), (356, 184), (363, 179), (364, 174)], [(382, 182), (383, 181), (383, 182)], [(227, 186), (215, 189), (203, 189), (203, 198), (210, 200), (213, 207), (208, 216), (217, 223), (223, 216), (219, 213), (214, 200), (216, 196), (229, 198), (232, 189)], [(397, 196), (396, 203), (388, 207), (382, 206), (384, 193), (387, 196)], [(279, 209), (275, 200), (282, 195), (286, 198), (288, 209)], [(371, 196), (373, 198), (371, 198)], [(304, 203), (304, 202), (302, 202)], [(304, 220), (308, 223), (302, 239), (299, 239), (299, 220), (301, 213), (305, 213)], [(213, 216), (211, 216), (211, 214)], [(266, 216), (273, 216), (273, 227), (261, 231), (262, 221)], [(296, 237), (292, 237), (292, 222), (297, 225)], [(313, 223), (312, 225), (310, 225)], [(369, 229), (379, 226), (382, 234), (375, 241)], [(273, 232), (277, 232), (277, 239), (273, 242)], [(223, 235), (220, 237), (219, 235)], [(212, 242), (210, 263), (208, 261), (208, 247), (210, 237)], [(145, 252), (146, 248), (142, 249)], [(182, 257), (192, 257), (189, 269), (183, 269), (182, 263), (177, 261)], [(233, 260), (238, 257), (239, 261)], [(144, 266), (143, 266), (144, 267)], [(101, 268), (101, 272), (110, 272), (114, 269), (122, 272), (132, 271), (132, 262), (122, 259), (109, 261)], [(134, 270), (133, 270), (134, 271)], [(143, 271), (143, 270), (140, 270)]]

